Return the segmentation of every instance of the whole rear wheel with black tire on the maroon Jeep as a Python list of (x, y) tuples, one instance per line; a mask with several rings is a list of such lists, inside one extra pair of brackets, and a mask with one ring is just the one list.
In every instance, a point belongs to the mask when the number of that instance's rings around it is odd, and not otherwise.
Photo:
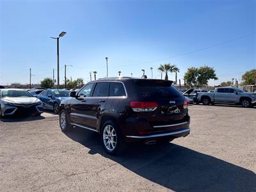
[(109, 155), (122, 154), (126, 143), (116, 122), (108, 120), (104, 122), (100, 131), (100, 140), (103, 149)]

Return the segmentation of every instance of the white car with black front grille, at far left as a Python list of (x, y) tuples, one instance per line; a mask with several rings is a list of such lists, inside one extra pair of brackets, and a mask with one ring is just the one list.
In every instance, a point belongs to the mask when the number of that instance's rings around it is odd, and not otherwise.
[(42, 102), (20, 89), (0, 89), (0, 118), (9, 115), (40, 115)]

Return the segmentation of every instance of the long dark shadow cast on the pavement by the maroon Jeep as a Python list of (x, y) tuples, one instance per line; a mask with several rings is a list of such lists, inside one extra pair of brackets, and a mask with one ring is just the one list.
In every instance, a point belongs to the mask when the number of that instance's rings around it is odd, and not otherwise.
[(174, 191), (256, 191), (256, 175), (235, 164), (175, 144), (131, 145), (109, 156), (95, 132), (75, 128), (67, 136), (132, 172)]

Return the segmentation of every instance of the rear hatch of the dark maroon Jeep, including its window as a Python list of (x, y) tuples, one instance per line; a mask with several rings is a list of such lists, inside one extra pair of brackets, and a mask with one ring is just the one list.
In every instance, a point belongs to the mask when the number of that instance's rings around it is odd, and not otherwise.
[(148, 124), (152, 127), (188, 121), (188, 105), (183, 95), (172, 86), (172, 81), (134, 79), (134, 84), (140, 101), (157, 104), (153, 111), (134, 111), (134, 116), (147, 118)]

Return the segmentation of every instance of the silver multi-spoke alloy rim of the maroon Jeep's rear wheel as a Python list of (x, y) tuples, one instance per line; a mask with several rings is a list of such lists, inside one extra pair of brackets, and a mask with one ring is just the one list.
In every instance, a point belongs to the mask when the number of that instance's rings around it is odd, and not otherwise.
[(113, 151), (116, 148), (117, 136), (112, 125), (106, 125), (106, 127), (104, 127), (103, 142), (109, 151)]

